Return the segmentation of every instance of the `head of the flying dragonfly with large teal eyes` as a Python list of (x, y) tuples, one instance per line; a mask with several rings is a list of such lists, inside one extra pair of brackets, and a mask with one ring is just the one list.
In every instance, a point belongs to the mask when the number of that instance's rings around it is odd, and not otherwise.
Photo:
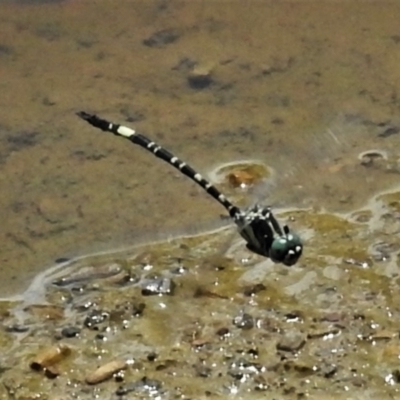
[(269, 257), (276, 263), (288, 267), (296, 264), (303, 252), (303, 243), (298, 235), (291, 233), (288, 226), (283, 227), (284, 234), (272, 241)]

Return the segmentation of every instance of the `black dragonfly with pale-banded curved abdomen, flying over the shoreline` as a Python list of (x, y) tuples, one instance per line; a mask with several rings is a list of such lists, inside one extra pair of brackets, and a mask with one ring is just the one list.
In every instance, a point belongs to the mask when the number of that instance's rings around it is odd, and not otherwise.
[(190, 165), (145, 135), (127, 126), (102, 119), (96, 114), (80, 111), (77, 115), (93, 127), (128, 139), (153, 153), (201, 186), (227, 210), (250, 251), (286, 266), (296, 264), (301, 257), (303, 243), (300, 236), (292, 232), (288, 225), (281, 226), (270, 206), (255, 204), (247, 209), (241, 209), (228, 200), (223, 193)]

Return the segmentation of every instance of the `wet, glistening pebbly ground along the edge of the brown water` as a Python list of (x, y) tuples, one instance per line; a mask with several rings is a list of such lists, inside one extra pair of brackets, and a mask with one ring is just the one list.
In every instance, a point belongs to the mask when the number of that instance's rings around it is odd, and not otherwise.
[(55, 265), (0, 302), (0, 396), (396, 398), (399, 204), (280, 214), (292, 268), (228, 227)]

